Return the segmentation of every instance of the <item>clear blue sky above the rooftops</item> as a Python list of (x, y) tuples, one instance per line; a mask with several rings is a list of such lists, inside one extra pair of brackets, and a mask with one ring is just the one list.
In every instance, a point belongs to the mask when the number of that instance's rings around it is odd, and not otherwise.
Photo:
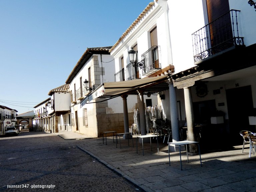
[(113, 46), (153, 0), (0, 0), (0, 105), (34, 110), (87, 47)]

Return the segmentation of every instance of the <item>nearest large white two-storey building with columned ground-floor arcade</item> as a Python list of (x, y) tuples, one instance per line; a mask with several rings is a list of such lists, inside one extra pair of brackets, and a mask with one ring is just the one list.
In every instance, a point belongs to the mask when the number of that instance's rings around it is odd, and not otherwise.
[[(248, 117), (256, 116), (253, 113), (255, 8), (250, 2), (155, 0), (149, 3), (111, 48), (117, 77), (111, 86), (118, 87), (121, 85), (118, 81), (128, 80), (118, 90), (119, 96), (127, 94), (128, 98), (141, 90), (138, 100), (142, 110), (147, 92), (160, 91), (165, 95), (159, 102), (171, 121), (174, 141), (200, 141), (204, 150), (242, 143), (239, 131), (255, 132), (255, 125)], [(130, 64), (131, 47), (137, 52), (133, 60), (138, 64), (136, 70)], [(148, 82), (140, 84), (146, 78)], [(134, 87), (129, 87), (130, 83)], [(106, 84), (102, 88), (106, 91), (109, 87)], [(106, 91), (104, 97), (111, 94)], [(211, 122), (220, 111), (224, 113), (223, 123)], [(140, 119), (144, 127), (145, 117)], [(185, 123), (186, 138), (180, 134)], [(195, 124), (203, 127), (198, 129)], [(223, 139), (223, 134), (235, 139), (227, 140), (223, 146), (213, 146), (211, 143)], [(194, 147), (190, 150), (197, 151)]]

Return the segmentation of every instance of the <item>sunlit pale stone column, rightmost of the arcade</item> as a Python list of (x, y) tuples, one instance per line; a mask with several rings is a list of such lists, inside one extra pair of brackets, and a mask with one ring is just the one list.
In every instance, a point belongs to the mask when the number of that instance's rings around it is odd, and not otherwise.
[[(196, 141), (194, 135), (194, 110), (193, 110), (193, 103), (192, 103), (192, 95), (190, 87), (184, 87), (184, 99), (185, 99), (185, 108), (186, 108), (186, 118), (187, 118), (187, 128), (188, 128), (188, 140), (189, 141)], [(190, 144), (189, 145), (189, 152), (196, 153), (197, 152), (197, 145)]]

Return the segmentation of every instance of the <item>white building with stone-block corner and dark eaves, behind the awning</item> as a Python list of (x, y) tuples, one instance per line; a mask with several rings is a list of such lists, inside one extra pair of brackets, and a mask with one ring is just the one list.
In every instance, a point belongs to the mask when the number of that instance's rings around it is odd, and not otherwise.
[(99, 137), (103, 131), (123, 130), (122, 99), (94, 98), (102, 94), (100, 85), (114, 81), (110, 48), (87, 48), (66, 80), (70, 84), (72, 131)]

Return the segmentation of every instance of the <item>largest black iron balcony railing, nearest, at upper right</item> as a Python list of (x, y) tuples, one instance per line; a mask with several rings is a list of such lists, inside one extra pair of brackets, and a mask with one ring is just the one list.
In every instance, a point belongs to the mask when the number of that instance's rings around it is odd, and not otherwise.
[(238, 30), (239, 12), (232, 9), (192, 34), (195, 63), (214, 54), (244, 46)]

